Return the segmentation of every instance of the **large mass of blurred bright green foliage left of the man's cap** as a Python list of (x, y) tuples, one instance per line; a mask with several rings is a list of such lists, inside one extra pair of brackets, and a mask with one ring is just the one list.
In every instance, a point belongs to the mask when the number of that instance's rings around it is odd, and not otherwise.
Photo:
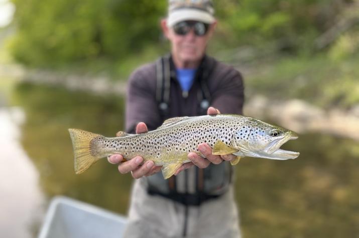
[(14, 0), (15, 58), (30, 66), (124, 59), (160, 36), (165, 1)]

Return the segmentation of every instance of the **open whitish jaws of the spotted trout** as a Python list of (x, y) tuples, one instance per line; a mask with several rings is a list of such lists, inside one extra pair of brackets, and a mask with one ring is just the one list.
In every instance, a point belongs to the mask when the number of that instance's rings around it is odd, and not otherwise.
[(283, 144), (285, 144), (287, 141), (296, 140), (296, 139), (298, 139), (298, 135), (296, 133), (292, 132), (289, 135), (284, 136), (282, 139), (279, 139), (279, 140), (273, 142), (267, 151), (268, 154), (266, 155), (266, 158), (279, 159), (279, 160), (297, 158), (300, 154), (299, 152), (280, 149), (280, 147)]

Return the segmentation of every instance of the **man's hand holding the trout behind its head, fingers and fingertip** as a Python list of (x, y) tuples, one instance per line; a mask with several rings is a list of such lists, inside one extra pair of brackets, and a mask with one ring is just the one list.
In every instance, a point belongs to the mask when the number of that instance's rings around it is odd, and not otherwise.
[[(215, 109), (214, 107), (209, 107), (207, 110), (208, 115), (213, 114), (220, 114), (218, 109)], [(198, 145), (198, 150), (201, 152), (205, 158), (197, 155), (194, 152), (190, 152), (188, 154), (188, 159), (192, 162), (188, 162), (183, 164), (175, 173), (177, 175), (179, 172), (192, 167), (193, 165), (196, 165), (199, 168), (206, 168), (210, 163), (214, 164), (220, 164), (223, 160), (230, 161), (235, 158), (235, 155), (228, 154), (228, 155), (213, 155), (212, 154), (212, 148), (207, 143), (202, 143)]]

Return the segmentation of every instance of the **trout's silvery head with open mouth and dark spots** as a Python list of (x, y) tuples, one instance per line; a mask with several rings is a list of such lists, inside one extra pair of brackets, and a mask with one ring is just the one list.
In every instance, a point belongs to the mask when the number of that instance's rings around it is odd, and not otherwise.
[(233, 139), (236, 149), (245, 156), (285, 160), (297, 158), (299, 153), (280, 147), (297, 138), (293, 131), (252, 118), (235, 132)]

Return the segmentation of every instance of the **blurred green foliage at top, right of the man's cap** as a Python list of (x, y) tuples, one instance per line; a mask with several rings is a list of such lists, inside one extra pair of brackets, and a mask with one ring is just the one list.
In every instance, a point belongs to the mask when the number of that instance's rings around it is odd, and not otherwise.
[[(326, 21), (319, 9), (330, 4), (323, 0), (222, 0), (216, 10), (223, 34), (230, 44), (263, 44), (273, 40), (285, 47), (301, 47), (302, 37), (312, 39), (323, 31), (320, 21)], [(334, 11), (332, 16), (337, 13)]]

